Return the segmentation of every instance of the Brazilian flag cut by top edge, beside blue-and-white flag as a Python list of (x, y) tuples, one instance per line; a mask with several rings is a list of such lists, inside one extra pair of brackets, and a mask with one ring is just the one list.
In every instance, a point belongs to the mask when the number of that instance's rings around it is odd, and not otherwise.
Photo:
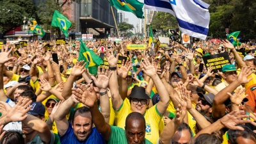
[(115, 6), (118, 10), (123, 10), (125, 12), (132, 12), (136, 17), (144, 19), (143, 16), (143, 5), (137, 0), (109, 0), (110, 6)]

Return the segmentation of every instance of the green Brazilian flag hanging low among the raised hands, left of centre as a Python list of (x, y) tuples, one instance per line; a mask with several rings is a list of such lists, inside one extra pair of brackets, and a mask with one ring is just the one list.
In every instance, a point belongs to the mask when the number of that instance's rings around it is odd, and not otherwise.
[(78, 61), (84, 60), (86, 62), (85, 67), (88, 68), (90, 74), (97, 74), (99, 65), (103, 60), (97, 56), (92, 50), (88, 49), (81, 40)]

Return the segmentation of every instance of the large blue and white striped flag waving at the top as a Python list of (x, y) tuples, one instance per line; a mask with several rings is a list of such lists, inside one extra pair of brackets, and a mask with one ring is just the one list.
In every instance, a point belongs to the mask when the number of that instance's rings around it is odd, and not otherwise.
[(145, 8), (172, 13), (179, 29), (187, 35), (206, 39), (209, 31), (209, 4), (201, 0), (144, 0)]

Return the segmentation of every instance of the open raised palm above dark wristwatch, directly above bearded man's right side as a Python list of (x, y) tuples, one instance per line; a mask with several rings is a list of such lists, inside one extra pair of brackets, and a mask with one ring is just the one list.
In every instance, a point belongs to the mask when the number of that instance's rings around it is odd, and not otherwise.
[(112, 75), (112, 72), (109, 72), (109, 69), (105, 70), (105, 67), (103, 67), (102, 71), (100, 72), (100, 67), (98, 67), (97, 75), (98, 75), (98, 79), (92, 76), (92, 80), (94, 81), (95, 85), (98, 88), (103, 88), (103, 89), (108, 88), (108, 82), (109, 82), (109, 78)]

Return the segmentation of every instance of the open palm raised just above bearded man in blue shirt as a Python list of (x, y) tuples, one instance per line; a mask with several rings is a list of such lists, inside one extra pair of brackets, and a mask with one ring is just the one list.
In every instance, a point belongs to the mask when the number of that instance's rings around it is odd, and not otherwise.
[[(90, 90), (88, 89), (90, 86)], [(79, 102), (82, 102), (84, 105), (92, 108), (97, 104), (97, 95), (93, 88), (93, 84), (87, 84), (86, 86), (77, 85), (78, 88), (72, 88), (72, 93)]]

